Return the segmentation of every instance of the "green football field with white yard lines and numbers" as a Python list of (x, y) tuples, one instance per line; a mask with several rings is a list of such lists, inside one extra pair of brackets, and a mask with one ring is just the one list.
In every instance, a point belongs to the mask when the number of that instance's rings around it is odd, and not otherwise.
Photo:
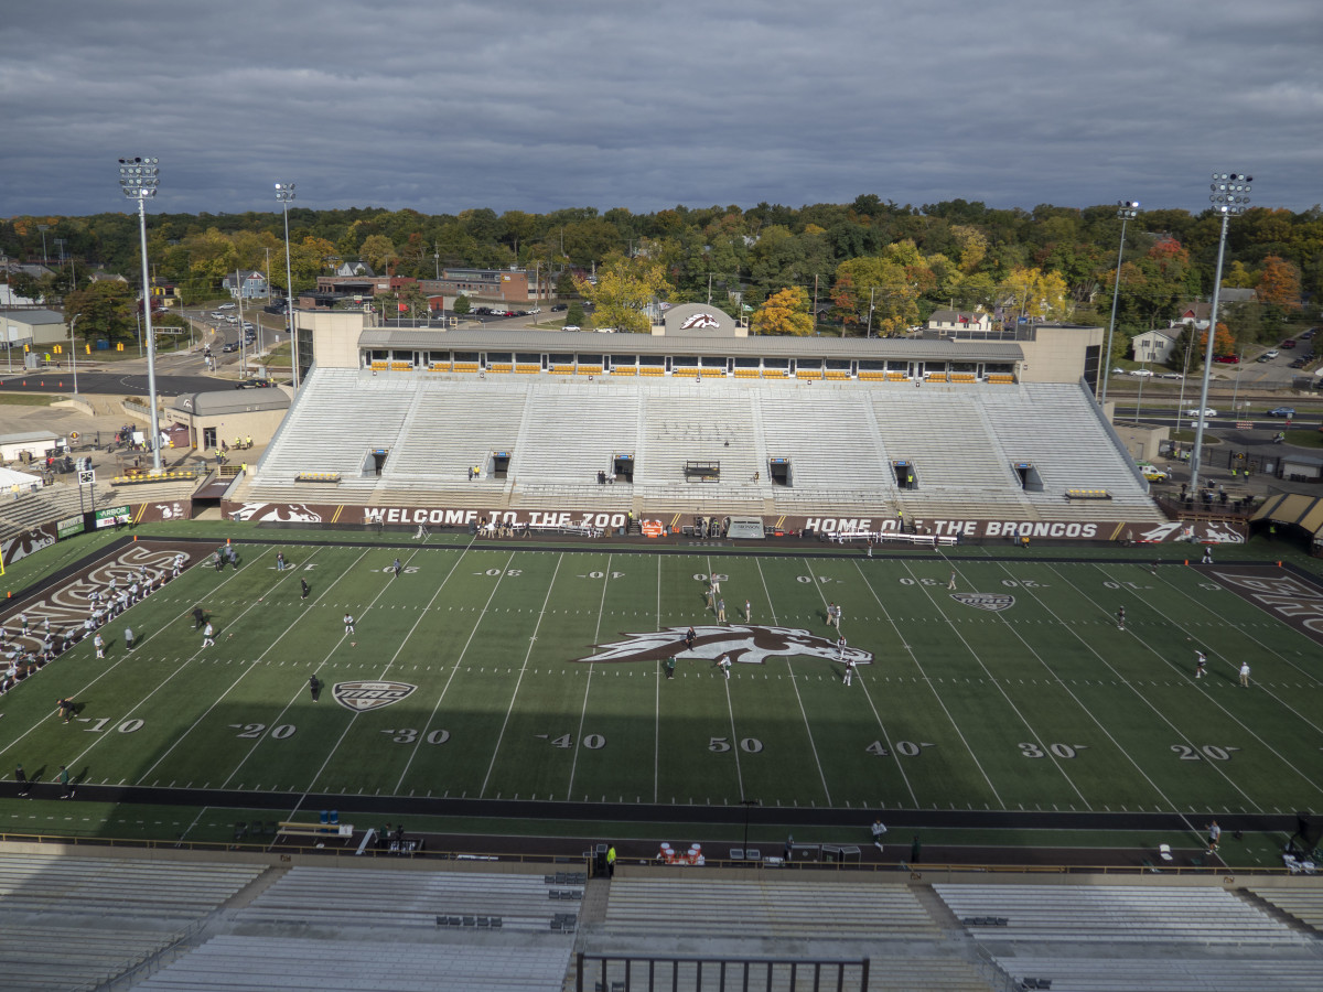
[[(106, 660), (83, 641), (5, 696), (3, 761), (48, 782), (67, 765), (85, 784), (347, 798), (1323, 807), (1323, 648), (1226, 582), (1279, 570), (531, 544), (241, 553), (241, 569), (194, 565), (111, 622)], [(857, 661), (848, 686), (828, 603)], [(53, 712), (66, 696), (67, 725)]]

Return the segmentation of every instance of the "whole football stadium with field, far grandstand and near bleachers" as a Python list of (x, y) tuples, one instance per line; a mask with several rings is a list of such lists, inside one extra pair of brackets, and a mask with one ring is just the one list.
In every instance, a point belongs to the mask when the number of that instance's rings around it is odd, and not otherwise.
[(1323, 586), (1098, 328), (296, 319), (3, 517), (7, 988), (1323, 987)]

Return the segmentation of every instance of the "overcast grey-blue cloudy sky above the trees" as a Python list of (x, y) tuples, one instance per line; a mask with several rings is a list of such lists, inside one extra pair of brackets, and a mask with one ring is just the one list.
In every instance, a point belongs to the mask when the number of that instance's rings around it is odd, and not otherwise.
[(1323, 201), (1319, 0), (9, 3), (0, 216)]

